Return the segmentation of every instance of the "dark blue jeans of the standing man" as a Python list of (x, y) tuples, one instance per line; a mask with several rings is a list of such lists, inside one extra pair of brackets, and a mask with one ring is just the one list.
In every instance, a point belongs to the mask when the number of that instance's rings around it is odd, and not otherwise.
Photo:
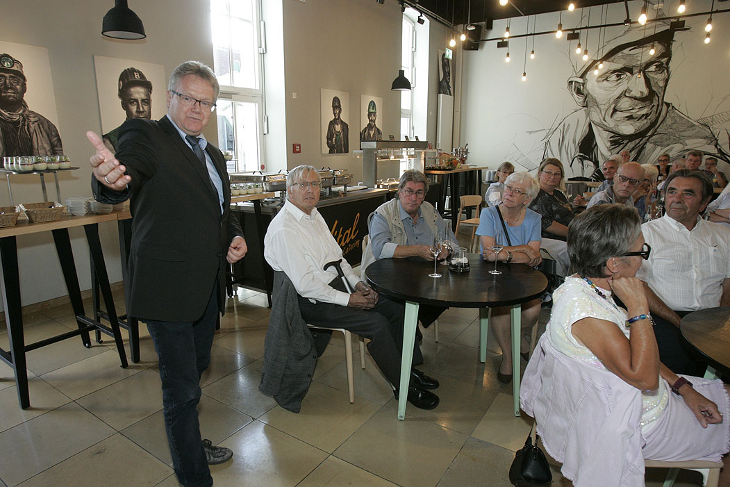
[(177, 480), (185, 487), (213, 485), (198, 423), (200, 376), (210, 364), (218, 319), (218, 285), (193, 322), (147, 321), (160, 360), (165, 431)]

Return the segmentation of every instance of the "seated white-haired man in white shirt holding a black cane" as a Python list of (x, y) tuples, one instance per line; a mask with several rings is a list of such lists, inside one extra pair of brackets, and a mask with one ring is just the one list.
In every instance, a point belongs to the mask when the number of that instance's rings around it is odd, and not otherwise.
[[(400, 383), (404, 304), (380, 298), (362, 282), (342, 258), (342, 249), (330, 233), (316, 205), (320, 177), (312, 166), (298, 166), (286, 177), (287, 201), (269, 224), (264, 237), (264, 257), (274, 271), (283, 271), (299, 294), (304, 321), (324, 328), (344, 328), (370, 340), (373, 360), (393, 386)], [(347, 293), (337, 272), (325, 264), (342, 259), (342, 272), (355, 292)], [(413, 368), (408, 401), (421, 409), (434, 409), (439, 397), (427, 389), (437, 380)]]

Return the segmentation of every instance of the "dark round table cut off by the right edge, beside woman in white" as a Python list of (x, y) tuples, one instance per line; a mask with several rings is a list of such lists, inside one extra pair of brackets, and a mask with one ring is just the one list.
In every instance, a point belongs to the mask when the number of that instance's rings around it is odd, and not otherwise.
[(730, 307), (691, 312), (682, 318), (680, 331), (709, 362), (704, 377), (717, 378), (718, 370), (730, 375)]

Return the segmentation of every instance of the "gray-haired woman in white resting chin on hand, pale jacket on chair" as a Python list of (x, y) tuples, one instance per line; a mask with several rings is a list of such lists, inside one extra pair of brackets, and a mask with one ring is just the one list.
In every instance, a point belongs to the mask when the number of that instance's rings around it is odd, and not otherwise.
[(721, 461), (730, 442), (726, 386), (679, 377), (659, 361), (648, 299), (635, 277), (651, 252), (637, 212), (624, 204), (591, 207), (570, 223), (567, 245), (577, 273), (553, 292), (520, 391), (563, 474), (576, 485), (642, 486), (643, 468), (635, 467), (644, 459)]

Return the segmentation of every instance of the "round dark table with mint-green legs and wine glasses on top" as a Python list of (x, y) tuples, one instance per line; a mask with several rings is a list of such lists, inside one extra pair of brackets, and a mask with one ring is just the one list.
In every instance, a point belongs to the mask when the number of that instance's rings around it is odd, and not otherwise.
[[(480, 254), (469, 254), (469, 272), (451, 272), (439, 264), (442, 277), (429, 277), (432, 262), (410, 258), (383, 258), (365, 269), (367, 282), (379, 293), (396, 301), (405, 301), (401, 383), (399, 391), (407, 391), (413, 360), (415, 329), (418, 326), (418, 305), (480, 308), (480, 360), (486, 360), (489, 307), (510, 306), (512, 321), (512, 392), (514, 413), (520, 415), (520, 311), (521, 303), (537, 298), (548, 288), (542, 272), (524, 264), (497, 264), (502, 274), (493, 275), (493, 262)], [(407, 394), (399, 394), (398, 419), (405, 418)]]

